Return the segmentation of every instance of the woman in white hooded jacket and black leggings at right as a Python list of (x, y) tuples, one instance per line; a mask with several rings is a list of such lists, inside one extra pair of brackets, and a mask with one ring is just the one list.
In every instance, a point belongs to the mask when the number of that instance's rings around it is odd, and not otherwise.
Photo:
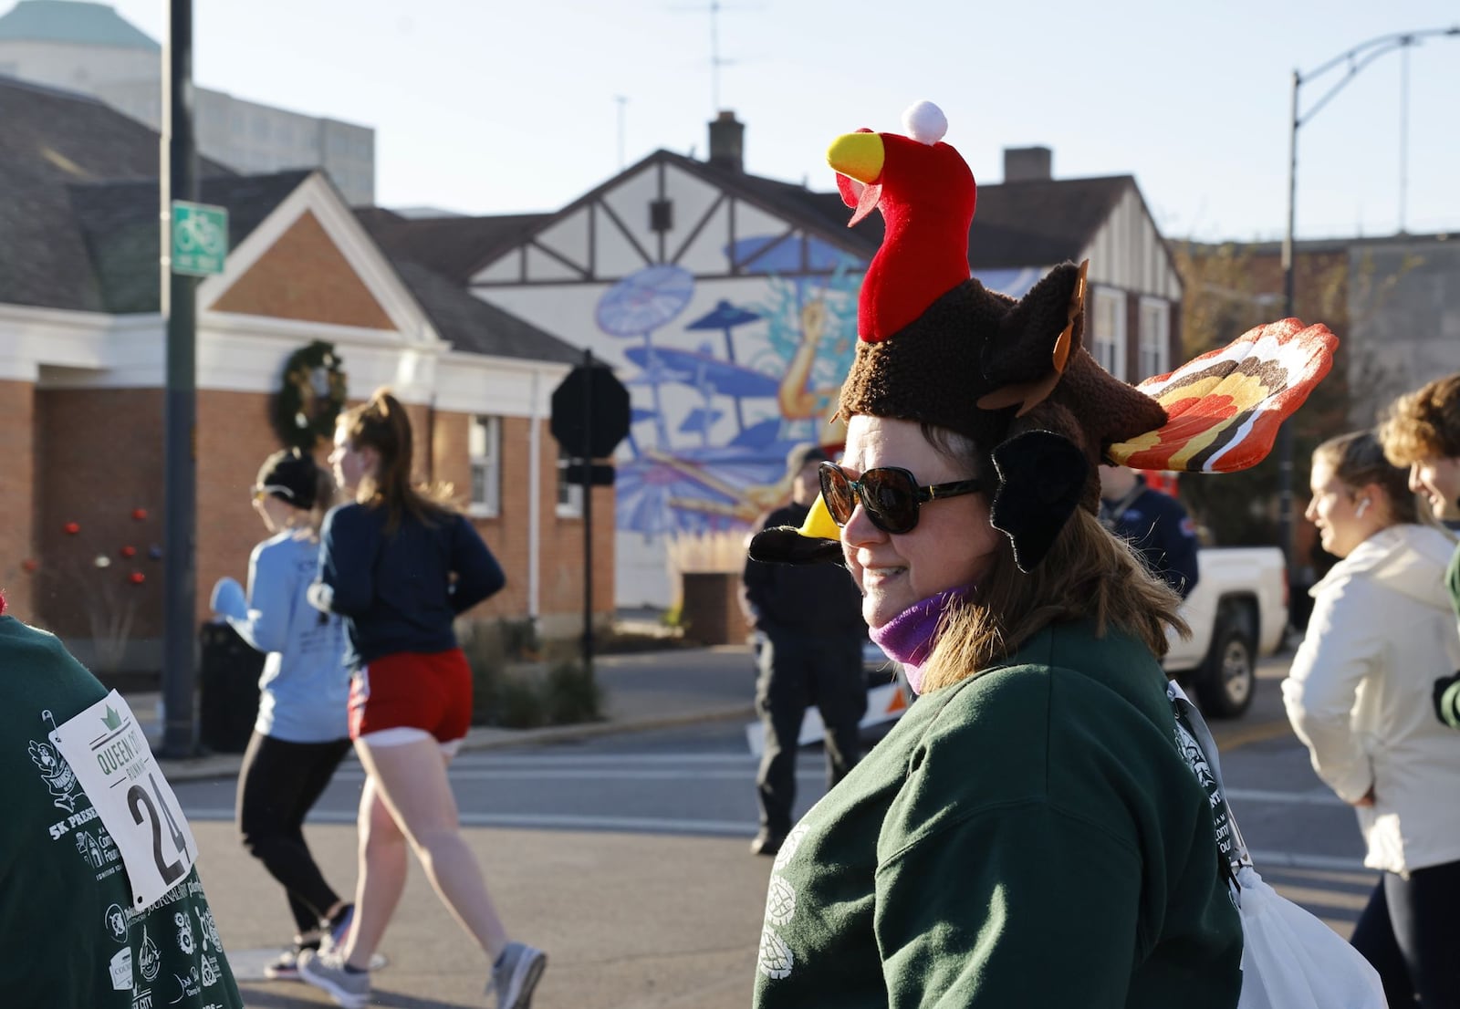
[(1407, 473), (1372, 432), (1313, 454), (1305, 513), (1342, 558), (1317, 586), (1308, 632), (1282, 685), (1313, 770), (1358, 812), (1365, 864), (1384, 872), (1353, 946), (1391, 1006), (1460, 1008), (1460, 733), (1431, 705), (1460, 666), (1445, 594), (1454, 549), (1421, 526)]

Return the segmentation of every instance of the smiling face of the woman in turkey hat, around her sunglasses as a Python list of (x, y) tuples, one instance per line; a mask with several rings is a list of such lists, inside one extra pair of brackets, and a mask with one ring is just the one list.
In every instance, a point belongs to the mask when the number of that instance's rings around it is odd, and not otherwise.
[[(877, 466), (911, 470), (918, 486), (974, 476), (965, 463), (937, 451), (912, 421), (856, 415), (847, 423), (842, 470), (857, 479)], [(978, 580), (1000, 548), (983, 494), (926, 501), (908, 533), (885, 533), (858, 502), (841, 530), (847, 568), (861, 590), (861, 616), (882, 626), (929, 596)]]

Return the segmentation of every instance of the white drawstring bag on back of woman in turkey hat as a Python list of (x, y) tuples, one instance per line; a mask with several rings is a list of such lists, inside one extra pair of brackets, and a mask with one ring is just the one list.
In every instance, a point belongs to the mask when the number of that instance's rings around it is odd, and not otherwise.
[(1362, 954), (1263, 882), (1226, 805), (1222, 767), (1206, 721), (1175, 683), (1168, 683), (1167, 697), (1177, 715), (1181, 749), (1212, 796), (1218, 847), (1228, 853), (1235, 876), (1234, 899), (1242, 918), (1242, 994), (1237, 1009), (1387, 1009), (1378, 972)]

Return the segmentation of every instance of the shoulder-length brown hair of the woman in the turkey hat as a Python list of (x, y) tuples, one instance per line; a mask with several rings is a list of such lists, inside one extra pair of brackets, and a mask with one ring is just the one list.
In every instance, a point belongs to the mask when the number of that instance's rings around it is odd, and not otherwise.
[[(983, 453), (971, 440), (929, 425), (923, 437), (975, 473), (981, 469)], [(1181, 597), (1146, 569), (1126, 540), (1077, 508), (1028, 574), (1015, 565), (1013, 546), (1000, 536), (972, 600), (946, 618), (924, 683), (929, 689), (956, 683), (1013, 654), (1050, 624), (1086, 618), (1095, 621), (1098, 635), (1118, 628), (1159, 659), (1168, 648), (1167, 628), (1190, 634), (1180, 606)]]

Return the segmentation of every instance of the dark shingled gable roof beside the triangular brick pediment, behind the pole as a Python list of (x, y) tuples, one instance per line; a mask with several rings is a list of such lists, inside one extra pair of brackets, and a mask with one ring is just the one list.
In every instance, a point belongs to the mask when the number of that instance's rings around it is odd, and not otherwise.
[[(228, 209), (228, 247), (238, 248), (310, 171), (204, 178), (199, 200)], [(161, 310), (156, 180), (72, 185), (72, 207), (101, 289), (104, 311)]]

